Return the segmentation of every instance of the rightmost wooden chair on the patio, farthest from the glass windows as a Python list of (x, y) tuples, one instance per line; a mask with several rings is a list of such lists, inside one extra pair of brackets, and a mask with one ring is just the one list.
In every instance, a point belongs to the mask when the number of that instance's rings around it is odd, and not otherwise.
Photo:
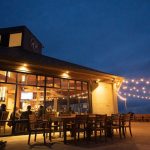
[(126, 129), (129, 128), (130, 135), (132, 136), (132, 131), (131, 131), (131, 114), (124, 114), (122, 116), (122, 127), (123, 127), (123, 135), (126, 137)]

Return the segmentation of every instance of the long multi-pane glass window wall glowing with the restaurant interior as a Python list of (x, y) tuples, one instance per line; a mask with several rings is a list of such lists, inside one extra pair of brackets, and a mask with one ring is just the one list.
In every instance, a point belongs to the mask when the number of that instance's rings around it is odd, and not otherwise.
[(0, 135), (27, 132), (24, 113), (29, 105), (37, 116), (41, 106), (51, 113), (70, 113), (70, 108), (76, 114), (89, 112), (88, 82), (10, 71), (0, 71), (0, 82), (0, 104), (9, 111), (6, 120), (14, 120), (5, 123), (7, 132)]

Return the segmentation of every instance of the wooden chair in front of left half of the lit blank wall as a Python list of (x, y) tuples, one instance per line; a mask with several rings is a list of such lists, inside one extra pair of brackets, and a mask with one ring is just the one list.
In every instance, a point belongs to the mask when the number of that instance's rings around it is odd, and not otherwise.
[(107, 140), (107, 115), (96, 115), (95, 117), (95, 127), (94, 127), (94, 133), (95, 133), (95, 142), (97, 142), (97, 132), (100, 132), (100, 137), (102, 136), (102, 133), (104, 133), (105, 141)]

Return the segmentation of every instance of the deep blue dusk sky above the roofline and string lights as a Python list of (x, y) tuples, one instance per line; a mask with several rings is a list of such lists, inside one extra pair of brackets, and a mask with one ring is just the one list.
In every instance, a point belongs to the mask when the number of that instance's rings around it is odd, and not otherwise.
[(149, 79), (149, 0), (1, 0), (0, 10), (0, 28), (26, 25), (44, 55)]

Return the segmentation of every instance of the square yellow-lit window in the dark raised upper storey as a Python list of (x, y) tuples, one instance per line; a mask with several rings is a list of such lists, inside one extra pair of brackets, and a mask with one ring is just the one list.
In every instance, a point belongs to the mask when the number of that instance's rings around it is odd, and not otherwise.
[(9, 47), (21, 46), (22, 33), (10, 34)]

